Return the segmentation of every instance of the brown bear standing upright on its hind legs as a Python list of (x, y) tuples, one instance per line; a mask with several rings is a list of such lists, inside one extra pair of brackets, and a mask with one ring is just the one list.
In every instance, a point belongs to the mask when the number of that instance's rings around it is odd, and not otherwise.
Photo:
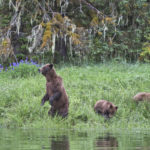
[(68, 115), (69, 101), (62, 78), (56, 74), (53, 64), (44, 65), (39, 69), (39, 72), (46, 78), (46, 94), (42, 98), (41, 106), (46, 101), (49, 101), (51, 105), (49, 115), (55, 116), (58, 114), (63, 118), (66, 117)]

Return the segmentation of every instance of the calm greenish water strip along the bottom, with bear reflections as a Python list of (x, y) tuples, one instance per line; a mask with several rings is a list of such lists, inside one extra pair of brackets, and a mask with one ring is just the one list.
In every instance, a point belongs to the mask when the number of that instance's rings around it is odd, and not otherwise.
[(0, 129), (0, 150), (150, 150), (150, 131)]

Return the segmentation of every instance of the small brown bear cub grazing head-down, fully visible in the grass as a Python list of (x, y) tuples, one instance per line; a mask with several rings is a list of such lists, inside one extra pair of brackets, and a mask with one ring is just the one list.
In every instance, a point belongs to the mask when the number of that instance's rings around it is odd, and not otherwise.
[(116, 113), (117, 109), (117, 106), (106, 100), (99, 100), (94, 106), (95, 112), (105, 118), (111, 118)]

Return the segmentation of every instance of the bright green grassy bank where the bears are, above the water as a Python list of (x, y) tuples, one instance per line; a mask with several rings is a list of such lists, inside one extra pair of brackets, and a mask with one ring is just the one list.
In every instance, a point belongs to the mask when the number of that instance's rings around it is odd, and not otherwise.
[[(132, 97), (150, 91), (149, 64), (97, 64), (56, 68), (69, 96), (69, 116), (51, 118), (49, 104), (40, 106), (45, 93), (45, 78), (11, 78), (0, 73), (0, 126), (23, 128), (150, 128), (150, 103), (139, 105)], [(106, 99), (118, 111), (104, 120), (93, 111), (95, 102)]]

